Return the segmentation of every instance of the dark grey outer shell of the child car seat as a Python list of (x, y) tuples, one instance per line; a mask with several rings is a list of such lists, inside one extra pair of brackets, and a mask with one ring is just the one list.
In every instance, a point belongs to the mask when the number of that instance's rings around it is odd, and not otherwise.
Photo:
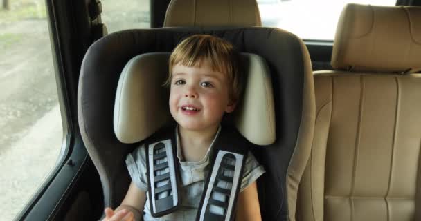
[(277, 28), (125, 30), (89, 48), (80, 74), (78, 115), (84, 144), (100, 173), (105, 206), (116, 207), (123, 200), (130, 180), (125, 156), (138, 145), (124, 144), (114, 133), (114, 99), (120, 73), (133, 57), (171, 52), (181, 39), (195, 34), (222, 37), (240, 52), (265, 59), (274, 96), (276, 140), (251, 150), (267, 171), (258, 180), (260, 208), (263, 220), (294, 220), (296, 191), (312, 142), (314, 89), (303, 41)]

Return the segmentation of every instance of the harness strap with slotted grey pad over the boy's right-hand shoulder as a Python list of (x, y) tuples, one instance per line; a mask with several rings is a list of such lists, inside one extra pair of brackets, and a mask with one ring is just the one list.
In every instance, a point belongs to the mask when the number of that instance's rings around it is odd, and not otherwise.
[(212, 172), (206, 177), (196, 220), (234, 220), (242, 173), (251, 145), (235, 129), (222, 128), (211, 157)]

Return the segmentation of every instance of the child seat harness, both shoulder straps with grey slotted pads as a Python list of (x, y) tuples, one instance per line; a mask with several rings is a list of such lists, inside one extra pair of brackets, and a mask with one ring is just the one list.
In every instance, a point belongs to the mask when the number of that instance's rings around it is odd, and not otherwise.
[[(222, 127), (213, 144), (212, 169), (206, 177), (196, 220), (234, 220), (242, 171), (251, 144), (238, 131)], [(145, 141), (148, 197), (151, 215), (161, 217), (181, 202), (174, 128)]]

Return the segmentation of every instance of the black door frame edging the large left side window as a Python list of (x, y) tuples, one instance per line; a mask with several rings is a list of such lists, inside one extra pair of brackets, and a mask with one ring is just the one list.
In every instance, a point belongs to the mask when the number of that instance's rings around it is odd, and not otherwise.
[[(70, 50), (75, 45), (70, 35), (74, 14), (70, 2), (46, 0), (47, 22), (53, 53), (53, 66), (62, 116), (62, 144), (60, 156), (53, 171), (33, 194), (15, 220), (55, 220), (61, 207), (69, 198), (71, 189), (78, 182), (80, 172), (89, 164), (89, 155), (78, 128), (77, 90), (80, 63), (86, 50)], [(80, 15), (78, 15), (80, 16)], [(72, 33), (72, 34), (70, 34)], [(70, 34), (70, 35), (69, 35)], [(74, 48), (74, 47), (73, 47)], [(76, 73), (76, 74), (75, 74)]]

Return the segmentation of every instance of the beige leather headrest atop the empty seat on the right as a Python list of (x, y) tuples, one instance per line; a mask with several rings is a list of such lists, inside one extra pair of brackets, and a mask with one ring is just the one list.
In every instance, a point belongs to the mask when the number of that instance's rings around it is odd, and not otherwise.
[(421, 7), (348, 4), (332, 51), (335, 69), (414, 73), (421, 70)]

